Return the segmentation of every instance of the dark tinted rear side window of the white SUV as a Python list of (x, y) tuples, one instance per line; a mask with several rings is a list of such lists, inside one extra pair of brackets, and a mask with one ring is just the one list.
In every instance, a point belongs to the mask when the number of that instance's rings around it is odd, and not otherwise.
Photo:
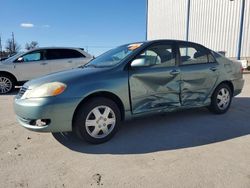
[(46, 59), (70, 59), (70, 58), (84, 58), (85, 56), (77, 50), (71, 49), (49, 49), (46, 52)]

